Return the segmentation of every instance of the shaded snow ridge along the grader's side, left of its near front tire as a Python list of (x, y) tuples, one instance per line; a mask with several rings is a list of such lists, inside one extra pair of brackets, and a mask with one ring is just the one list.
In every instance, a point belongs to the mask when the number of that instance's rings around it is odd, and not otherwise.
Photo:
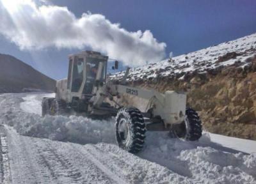
[[(23, 119), (22, 125), (19, 125)], [(70, 141), (81, 144), (115, 142), (115, 128), (111, 121), (99, 121), (82, 116), (31, 116), (26, 114), (17, 119), (15, 129), (22, 135), (44, 137), (56, 141)]]

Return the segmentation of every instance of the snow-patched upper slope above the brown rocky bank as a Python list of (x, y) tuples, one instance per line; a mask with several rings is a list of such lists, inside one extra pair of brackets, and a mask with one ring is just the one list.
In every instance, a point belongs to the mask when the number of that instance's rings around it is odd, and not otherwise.
[[(128, 81), (139, 79), (154, 79), (156, 77), (175, 77), (180, 74), (179, 79), (183, 80), (187, 73), (205, 73), (207, 70), (235, 65), (244, 67), (250, 65), (250, 58), (255, 57), (256, 33), (244, 36), (237, 40), (221, 43), (207, 49), (197, 50), (181, 56), (172, 57), (158, 63), (132, 68), (127, 77)], [(227, 61), (220, 61), (225, 54), (236, 52), (236, 57), (226, 58)], [(169, 60), (169, 61), (168, 61)], [(118, 72), (111, 75), (112, 79), (122, 79), (125, 72)]]

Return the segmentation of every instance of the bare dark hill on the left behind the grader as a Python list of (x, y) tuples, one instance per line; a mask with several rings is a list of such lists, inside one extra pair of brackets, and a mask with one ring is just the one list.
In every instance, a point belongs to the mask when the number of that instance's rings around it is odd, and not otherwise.
[(54, 91), (56, 81), (19, 59), (0, 54), (0, 93)]

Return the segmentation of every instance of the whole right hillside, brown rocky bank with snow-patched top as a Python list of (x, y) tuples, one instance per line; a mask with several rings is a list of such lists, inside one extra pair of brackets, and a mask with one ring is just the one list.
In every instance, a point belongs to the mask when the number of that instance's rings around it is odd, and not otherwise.
[(256, 140), (256, 34), (133, 68), (129, 81), (161, 92), (187, 91), (205, 130)]

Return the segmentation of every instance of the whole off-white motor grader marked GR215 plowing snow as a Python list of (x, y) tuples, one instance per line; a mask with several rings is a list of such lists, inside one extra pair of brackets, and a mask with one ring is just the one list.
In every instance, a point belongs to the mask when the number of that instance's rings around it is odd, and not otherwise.
[[(186, 141), (202, 135), (198, 114), (186, 107), (186, 94), (178, 91), (158, 93), (127, 85), (129, 68), (121, 81), (107, 79), (108, 56), (84, 51), (69, 56), (68, 77), (57, 81), (56, 97), (44, 98), (42, 116), (70, 111), (100, 118), (116, 116), (116, 142), (120, 148), (137, 153), (143, 148), (147, 131), (170, 131)], [(118, 68), (115, 61), (114, 69)], [(122, 95), (147, 100), (147, 109), (124, 107), (116, 102)], [(113, 103), (108, 103), (113, 102)], [(111, 105), (115, 104), (115, 105)]]

